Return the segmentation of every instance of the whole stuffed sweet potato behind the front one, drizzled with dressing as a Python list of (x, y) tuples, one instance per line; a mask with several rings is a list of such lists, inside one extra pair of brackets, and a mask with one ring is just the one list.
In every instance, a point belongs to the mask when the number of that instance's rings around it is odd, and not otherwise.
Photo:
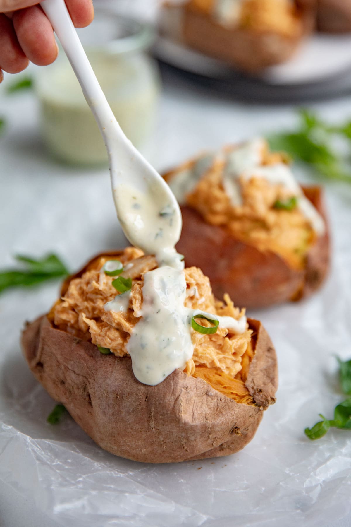
[(236, 306), (259, 308), (322, 284), (330, 259), (323, 190), (300, 187), (265, 140), (203, 153), (164, 178), (182, 210), (177, 250), (203, 269), (217, 298), (227, 292)]

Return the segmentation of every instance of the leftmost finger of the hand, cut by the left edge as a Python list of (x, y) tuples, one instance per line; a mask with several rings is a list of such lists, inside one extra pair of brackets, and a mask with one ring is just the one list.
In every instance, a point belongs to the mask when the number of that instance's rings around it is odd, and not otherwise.
[[(18, 43), (12, 21), (0, 14), (0, 69), (18, 73), (28, 66), (28, 58)], [(2, 80), (2, 74), (0, 75)]]

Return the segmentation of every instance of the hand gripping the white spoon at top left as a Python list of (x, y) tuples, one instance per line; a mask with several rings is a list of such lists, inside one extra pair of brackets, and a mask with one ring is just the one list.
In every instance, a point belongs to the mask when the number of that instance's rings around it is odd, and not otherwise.
[[(92, 0), (65, 0), (75, 27), (94, 18)], [(3, 71), (19, 73), (29, 61), (54, 62), (58, 48), (51, 23), (35, 0), (0, 0), (0, 82)]]

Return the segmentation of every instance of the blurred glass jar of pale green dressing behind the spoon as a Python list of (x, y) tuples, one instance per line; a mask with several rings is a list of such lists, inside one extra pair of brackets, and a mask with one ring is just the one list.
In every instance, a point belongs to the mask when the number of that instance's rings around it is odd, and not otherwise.
[[(153, 133), (161, 86), (156, 64), (144, 53), (153, 42), (152, 29), (98, 11), (93, 24), (78, 34), (122, 130), (143, 147)], [(107, 163), (102, 136), (62, 49), (35, 81), (48, 150), (67, 163)]]

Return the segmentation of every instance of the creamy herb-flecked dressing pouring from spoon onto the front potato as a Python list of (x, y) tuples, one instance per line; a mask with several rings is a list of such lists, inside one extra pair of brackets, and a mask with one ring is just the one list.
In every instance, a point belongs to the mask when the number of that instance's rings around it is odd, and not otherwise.
[[(157, 191), (156, 191), (157, 190)], [(184, 369), (193, 356), (192, 317), (195, 313), (220, 319), (220, 325), (244, 333), (246, 317), (215, 317), (184, 306), (186, 280), (184, 262), (174, 246), (179, 226), (164, 188), (146, 192), (127, 184), (118, 187), (117, 215), (132, 243), (146, 254), (155, 255), (158, 268), (144, 274), (143, 304), (126, 349), (132, 358), (135, 377), (143, 384), (161, 383), (176, 368)], [(107, 302), (106, 311), (126, 311), (130, 294), (117, 295)]]

